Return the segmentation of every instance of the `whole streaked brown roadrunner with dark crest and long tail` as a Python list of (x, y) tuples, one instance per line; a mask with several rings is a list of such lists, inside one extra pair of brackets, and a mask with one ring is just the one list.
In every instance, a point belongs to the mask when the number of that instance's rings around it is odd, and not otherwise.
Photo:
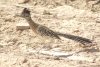
[(52, 39), (54, 39), (54, 38), (60, 39), (60, 36), (62, 36), (62, 37), (80, 42), (80, 43), (85, 44), (85, 45), (92, 43), (91, 40), (89, 40), (89, 39), (79, 37), (79, 36), (70, 35), (70, 34), (63, 34), (63, 33), (59, 33), (59, 32), (54, 32), (53, 30), (47, 28), (46, 26), (35, 23), (32, 20), (30, 11), (27, 8), (23, 9), (20, 16), (27, 20), (27, 22), (29, 23), (30, 28), (33, 30), (33, 32), (35, 32), (36, 34), (38, 34), (42, 37), (49, 37)]

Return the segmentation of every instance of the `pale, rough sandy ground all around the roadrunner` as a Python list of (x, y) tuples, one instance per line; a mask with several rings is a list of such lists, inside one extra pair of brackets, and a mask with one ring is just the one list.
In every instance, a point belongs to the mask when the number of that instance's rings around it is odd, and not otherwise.
[[(18, 4), (16, 0), (0, 0), (0, 67), (100, 67), (100, 13), (85, 7), (85, 2), (79, 7), (81, 2), (78, 0), (72, 3), (60, 1), (48, 5), (49, 2), (45, 3), (45, 0), (26, 4)], [(16, 16), (23, 7), (31, 10), (35, 22), (54, 31), (91, 39), (97, 45), (83, 48), (82, 44), (64, 38), (42, 44), (30, 29), (16, 30), (16, 24), (26, 22)], [(58, 51), (76, 52), (74, 55), (77, 57), (57, 59), (32, 53), (31, 50), (38, 50), (45, 45), (49, 50), (57, 48)], [(86, 60), (79, 60), (78, 56)]]

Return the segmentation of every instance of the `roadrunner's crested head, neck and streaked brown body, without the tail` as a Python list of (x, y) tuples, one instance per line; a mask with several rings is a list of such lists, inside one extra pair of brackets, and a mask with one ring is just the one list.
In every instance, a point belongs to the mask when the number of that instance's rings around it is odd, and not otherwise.
[(40, 25), (35, 23), (32, 19), (31, 19), (31, 15), (30, 15), (30, 11), (25, 8), (21, 14), (21, 17), (24, 17), (27, 22), (30, 25), (30, 28), (36, 33), (39, 34), (40, 36), (44, 37), (52, 37), (52, 38), (56, 38), (56, 39), (60, 39), (60, 37), (52, 30), (50, 30), (49, 28), (47, 28), (46, 26)]

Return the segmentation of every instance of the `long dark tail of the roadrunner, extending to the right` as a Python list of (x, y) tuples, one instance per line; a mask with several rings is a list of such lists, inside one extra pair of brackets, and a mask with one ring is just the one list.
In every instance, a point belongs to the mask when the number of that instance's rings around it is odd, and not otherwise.
[(83, 38), (83, 37), (79, 37), (79, 36), (75, 36), (75, 35), (70, 35), (70, 34), (63, 34), (63, 33), (57, 33), (59, 36), (63, 36), (65, 38), (80, 42), (82, 44), (89, 44), (92, 43), (92, 41), (90, 39), (87, 38)]

